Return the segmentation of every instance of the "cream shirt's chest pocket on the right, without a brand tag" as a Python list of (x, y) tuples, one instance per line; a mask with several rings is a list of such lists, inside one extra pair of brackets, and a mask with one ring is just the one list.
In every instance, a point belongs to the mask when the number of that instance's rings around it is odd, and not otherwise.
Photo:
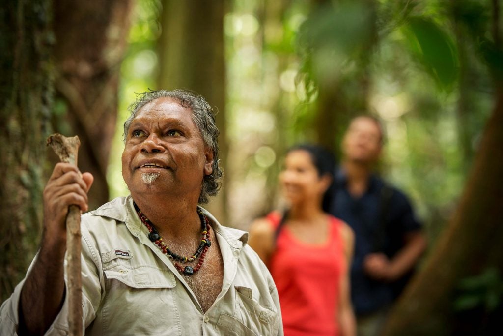
[(235, 287), (236, 300), (234, 317), (221, 314), (217, 323), (220, 331), (230, 335), (276, 335), (280, 319), (271, 307), (263, 307), (254, 300), (251, 289)]

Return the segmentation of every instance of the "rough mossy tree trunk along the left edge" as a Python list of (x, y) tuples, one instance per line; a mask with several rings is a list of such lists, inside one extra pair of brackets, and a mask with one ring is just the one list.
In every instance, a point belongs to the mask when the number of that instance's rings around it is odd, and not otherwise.
[(23, 278), (39, 240), (52, 106), (48, 0), (0, 6), (0, 300)]

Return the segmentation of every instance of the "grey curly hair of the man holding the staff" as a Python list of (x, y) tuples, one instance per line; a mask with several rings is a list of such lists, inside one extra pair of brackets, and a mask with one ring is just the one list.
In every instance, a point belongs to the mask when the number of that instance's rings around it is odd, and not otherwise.
[(204, 175), (201, 194), (199, 195), (199, 203), (206, 204), (209, 201), (209, 196), (214, 196), (220, 189), (220, 178), (223, 173), (219, 166), (218, 159), (218, 135), (219, 130), (215, 124), (215, 115), (210, 104), (203, 96), (189, 90), (150, 90), (136, 95), (136, 101), (129, 105), (128, 111), (131, 115), (124, 122), (124, 142), (129, 131), (129, 126), (135, 118), (138, 111), (151, 101), (158, 98), (169, 97), (178, 101), (182, 107), (192, 109), (192, 120), (199, 128), (205, 146), (211, 149), (213, 153), (213, 171), (209, 175)]

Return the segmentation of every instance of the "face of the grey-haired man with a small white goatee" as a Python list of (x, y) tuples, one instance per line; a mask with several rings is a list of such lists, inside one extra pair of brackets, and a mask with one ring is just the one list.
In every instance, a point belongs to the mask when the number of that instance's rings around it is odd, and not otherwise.
[(143, 106), (129, 126), (122, 176), (131, 194), (199, 197), (213, 155), (192, 120), (192, 111), (171, 98)]

